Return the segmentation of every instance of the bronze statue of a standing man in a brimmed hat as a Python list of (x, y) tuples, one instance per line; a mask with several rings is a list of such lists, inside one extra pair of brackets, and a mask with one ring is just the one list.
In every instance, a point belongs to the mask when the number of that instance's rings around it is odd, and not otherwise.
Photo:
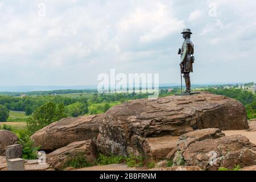
[[(180, 55), (180, 70), (181, 74), (183, 74), (183, 77), (185, 79), (186, 84), (186, 90), (185, 93), (191, 93), (191, 82), (190, 82), (190, 76), (189, 73), (193, 72), (193, 63), (195, 61), (195, 58), (193, 56), (194, 53), (194, 45), (190, 40), (191, 37), (191, 30), (190, 29), (184, 29), (183, 32), (184, 43), (182, 45), (182, 48), (179, 49), (178, 54)], [(182, 91), (182, 78), (181, 78), (181, 91)]]

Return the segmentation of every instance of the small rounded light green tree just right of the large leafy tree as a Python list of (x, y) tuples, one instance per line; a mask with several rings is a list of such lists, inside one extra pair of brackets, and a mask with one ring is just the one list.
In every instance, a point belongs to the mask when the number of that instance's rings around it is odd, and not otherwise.
[(65, 106), (65, 113), (71, 117), (78, 117), (79, 115), (84, 115), (88, 113), (88, 105), (81, 102), (76, 102), (74, 104)]

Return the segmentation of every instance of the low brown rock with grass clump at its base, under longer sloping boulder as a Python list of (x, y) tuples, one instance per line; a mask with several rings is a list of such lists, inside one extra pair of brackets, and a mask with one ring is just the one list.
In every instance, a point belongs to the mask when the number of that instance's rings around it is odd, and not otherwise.
[(73, 142), (68, 146), (59, 148), (47, 155), (47, 164), (60, 170), (65, 167), (65, 163), (72, 158), (84, 157), (88, 164), (94, 164), (98, 156), (98, 150), (94, 140)]

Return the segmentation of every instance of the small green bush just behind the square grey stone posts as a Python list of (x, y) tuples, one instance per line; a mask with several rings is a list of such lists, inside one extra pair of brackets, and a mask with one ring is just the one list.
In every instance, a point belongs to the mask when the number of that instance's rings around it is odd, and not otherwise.
[(32, 139), (27, 139), (26, 141), (19, 139), (20, 144), (23, 146), (23, 159), (37, 159), (38, 150), (40, 147), (34, 147), (34, 142)]

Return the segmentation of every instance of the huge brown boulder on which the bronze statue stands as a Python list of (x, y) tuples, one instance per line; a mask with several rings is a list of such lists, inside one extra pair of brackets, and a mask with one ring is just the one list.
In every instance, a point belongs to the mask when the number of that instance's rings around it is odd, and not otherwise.
[(97, 145), (104, 154), (143, 154), (145, 138), (179, 136), (205, 128), (249, 129), (245, 107), (208, 92), (126, 102), (105, 113)]

